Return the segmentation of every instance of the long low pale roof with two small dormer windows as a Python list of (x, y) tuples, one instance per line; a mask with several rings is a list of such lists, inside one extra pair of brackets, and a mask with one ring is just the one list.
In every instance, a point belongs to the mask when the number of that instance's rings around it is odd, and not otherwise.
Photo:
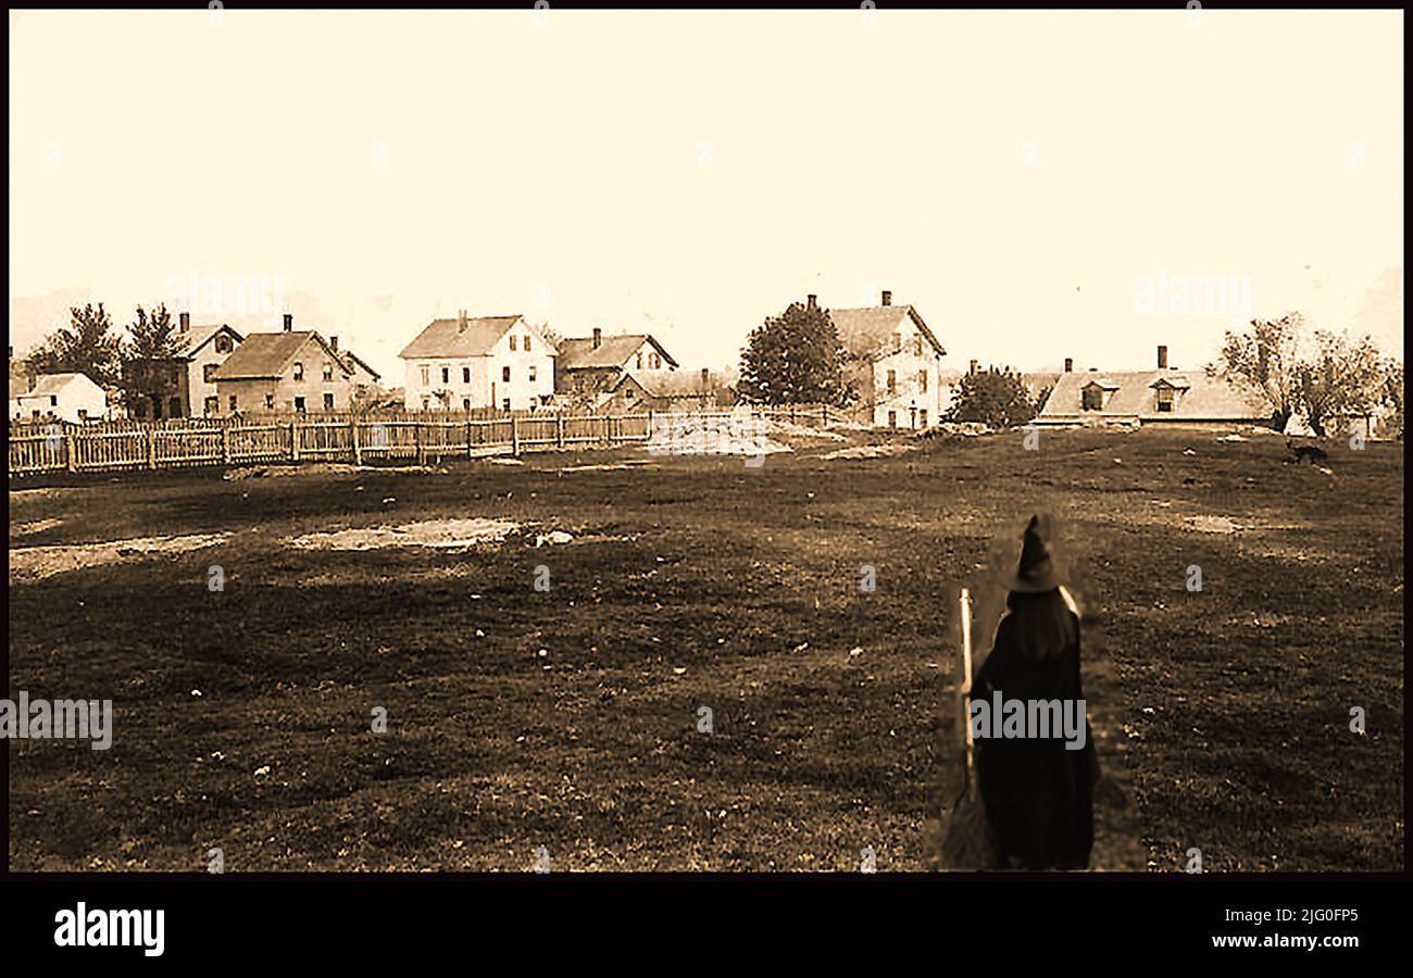
[[(1081, 391), (1092, 384), (1113, 393), (1102, 410), (1084, 410)], [(1111, 386), (1112, 384), (1112, 386)], [(1171, 386), (1184, 391), (1171, 411), (1157, 410), (1154, 387)], [(1153, 421), (1251, 421), (1270, 417), (1270, 407), (1221, 377), (1205, 372), (1136, 370), (1125, 373), (1061, 373), (1040, 411), (1040, 420), (1087, 417), (1137, 417)]]

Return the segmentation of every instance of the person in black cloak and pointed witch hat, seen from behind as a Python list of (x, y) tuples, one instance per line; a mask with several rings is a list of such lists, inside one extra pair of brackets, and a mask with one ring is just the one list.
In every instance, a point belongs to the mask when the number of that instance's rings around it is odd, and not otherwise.
[[(1072, 709), (1084, 700), (1080, 616), (1056, 577), (1048, 530), (1048, 520), (1040, 516), (1026, 527), (1019, 567), (1006, 582), (1006, 612), (972, 683), (972, 702), (989, 704), (998, 691), (1006, 701), (1058, 700)], [(1088, 714), (1082, 749), (1070, 750), (1063, 734), (1051, 734), (976, 741), (976, 773), (996, 869), (1089, 865), (1099, 769)]]

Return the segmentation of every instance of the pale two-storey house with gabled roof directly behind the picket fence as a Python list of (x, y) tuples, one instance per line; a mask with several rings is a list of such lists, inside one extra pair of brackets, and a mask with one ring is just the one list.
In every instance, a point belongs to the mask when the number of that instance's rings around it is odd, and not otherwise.
[(410, 411), (495, 407), (528, 411), (554, 400), (558, 350), (523, 315), (432, 319), (398, 356)]

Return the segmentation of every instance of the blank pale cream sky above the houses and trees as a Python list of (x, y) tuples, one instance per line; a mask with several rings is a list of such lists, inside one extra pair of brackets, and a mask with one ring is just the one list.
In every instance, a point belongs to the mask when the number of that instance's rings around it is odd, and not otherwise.
[[(270, 280), (393, 384), (397, 350), (458, 308), (647, 329), (718, 366), (791, 300), (882, 288), (952, 367), (1145, 367), (1159, 342), (1195, 366), (1225, 325), (1289, 310), (1402, 355), (1399, 13), (10, 28), (21, 348), (76, 295), (127, 322), (215, 276)], [(1145, 278), (1201, 277), (1238, 285), (1229, 308), (1142, 307)], [(196, 319), (277, 328), (246, 312)]]

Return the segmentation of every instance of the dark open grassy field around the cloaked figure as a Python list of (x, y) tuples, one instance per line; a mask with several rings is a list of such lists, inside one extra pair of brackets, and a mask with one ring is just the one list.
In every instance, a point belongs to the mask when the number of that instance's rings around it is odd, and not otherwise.
[[(10, 746), (10, 865), (858, 869), (872, 847), (921, 869), (959, 784), (947, 595), (971, 581), (993, 616), (993, 540), (1046, 505), (1128, 797), (1095, 866), (1402, 869), (1402, 447), (1335, 447), (1331, 476), (1219, 434), (13, 482), (11, 547), (229, 536), (48, 577), (25, 568), (49, 551), (11, 558), (11, 695), (112, 698), (116, 732)], [(577, 469), (623, 459), (650, 464)], [(287, 543), (469, 517), (520, 530)], [(552, 530), (572, 540), (536, 546)]]

